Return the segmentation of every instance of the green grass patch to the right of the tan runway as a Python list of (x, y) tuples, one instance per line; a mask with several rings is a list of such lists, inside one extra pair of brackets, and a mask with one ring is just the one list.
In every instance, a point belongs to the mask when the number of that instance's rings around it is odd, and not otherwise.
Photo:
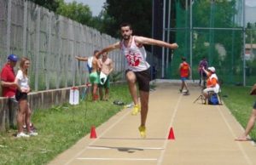
[[(236, 120), (246, 128), (249, 117), (253, 110), (255, 96), (249, 95), (251, 87), (222, 86), (222, 96), (225, 105), (230, 109)], [(227, 96), (227, 97), (225, 97)], [(256, 139), (256, 129), (250, 134), (252, 139)]]

